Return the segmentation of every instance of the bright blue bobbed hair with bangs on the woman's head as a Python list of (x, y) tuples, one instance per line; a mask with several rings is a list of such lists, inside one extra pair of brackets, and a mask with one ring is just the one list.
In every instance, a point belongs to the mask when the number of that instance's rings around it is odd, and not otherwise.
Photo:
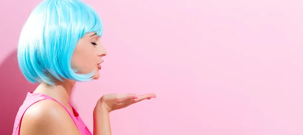
[(79, 0), (44, 0), (24, 24), (18, 44), (18, 63), (25, 78), (55, 85), (63, 78), (92, 80), (95, 71), (78, 74), (72, 56), (78, 40), (88, 32), (103, 34), (98, 14)]

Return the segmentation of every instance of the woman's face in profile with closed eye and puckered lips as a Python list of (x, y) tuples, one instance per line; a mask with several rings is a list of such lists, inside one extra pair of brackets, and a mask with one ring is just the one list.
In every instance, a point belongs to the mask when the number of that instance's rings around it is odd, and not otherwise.
[(77, 43), (72, 57), (72, 67), (80, 69), (81, 74), (88, 74), (95, 70), (93, 78), (98, 79), (100, 64), (103, 62), (102, 57), (106, 55), (107, 52), (100, 43), (100, 37), (94, 32), (86, 33)]

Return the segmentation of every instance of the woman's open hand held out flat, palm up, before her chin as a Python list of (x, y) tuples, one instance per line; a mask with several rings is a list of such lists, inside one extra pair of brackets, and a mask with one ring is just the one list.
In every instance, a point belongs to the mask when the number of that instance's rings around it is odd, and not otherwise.
[(102, 96), (97, 103), (97, 106), (107, 110), (108, 112), (125, 108), (134, 103), (138, 103), (145, 99), (156, 98), (155, 94), (145, 94), (145, 95), (136, 95), (136, 94), (108, 94)]

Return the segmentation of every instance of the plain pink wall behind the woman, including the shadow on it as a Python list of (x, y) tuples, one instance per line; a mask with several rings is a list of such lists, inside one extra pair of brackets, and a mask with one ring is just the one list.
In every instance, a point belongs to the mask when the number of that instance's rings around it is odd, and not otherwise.
[[(0, 2), (0, 128), (11, 134), (30, 85), (19, 72), (22, 24), (38, 0)], [(108, 56), (72, 102), (92, 130), (109, 93), (158, 98), (111, 113), (113, 134), (303, 134), (303, 3), (273, 0), (86, 0)]]

